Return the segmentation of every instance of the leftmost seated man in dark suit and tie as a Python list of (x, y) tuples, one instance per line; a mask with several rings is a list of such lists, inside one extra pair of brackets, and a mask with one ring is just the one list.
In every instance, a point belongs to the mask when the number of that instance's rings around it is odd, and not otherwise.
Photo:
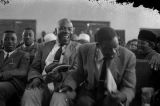
[(3, 48), (0, 50), (0, 106), (13, 95), (23, 93), (27, 80), (29, 55), (17, 50), (17, 36), (14, 31), (3, 33)]

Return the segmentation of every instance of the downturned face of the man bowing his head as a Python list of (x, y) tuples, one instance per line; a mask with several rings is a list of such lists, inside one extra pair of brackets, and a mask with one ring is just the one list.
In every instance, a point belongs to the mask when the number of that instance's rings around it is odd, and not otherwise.
[(99, 43), (99, 48), (103, 56), (106, 57), (107, 59), (114, 58), (114, 56), (117, 53), (118, 47), (119, 47), (119, 42), (117, 37), (114, 37), (114, 39), (111, 41)]

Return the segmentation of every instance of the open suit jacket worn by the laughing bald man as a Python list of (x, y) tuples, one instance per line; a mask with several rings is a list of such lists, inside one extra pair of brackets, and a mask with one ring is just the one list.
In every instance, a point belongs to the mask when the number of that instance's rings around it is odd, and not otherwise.
[[(30, 67), (30, 71), (28, 74), (29, 81), (36, 77), (42, 78), (42, 71), (45, 67), (45, 60), (48, 54), (50, 53), (50, 51), (53, 49), (55, 43), (56, 41), (47, 42), (39, 49)], [(70, 43), (67, 45), (67, 48), (64, 53), (64, 59), (63, 59), (63, 62), (65, 64), (68, 64), (68, 65), (73, 64), (78, 46), (79, 46), (79, 43), (73, 42), (73, 41), (70, 41)]]

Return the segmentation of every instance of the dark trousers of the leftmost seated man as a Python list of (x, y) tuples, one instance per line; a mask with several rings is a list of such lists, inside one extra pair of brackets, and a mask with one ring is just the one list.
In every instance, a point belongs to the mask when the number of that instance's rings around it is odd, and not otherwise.
[(17, 93), (16, 88), (10, 82), (0, 82), (0, 106), (6, 106), (10, 97)]

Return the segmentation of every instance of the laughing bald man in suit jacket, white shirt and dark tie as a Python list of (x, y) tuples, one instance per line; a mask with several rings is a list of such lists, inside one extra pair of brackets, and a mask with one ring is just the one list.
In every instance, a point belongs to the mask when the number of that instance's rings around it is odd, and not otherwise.
[[(38, 54), (33, 60), (28, 73), (29, 86), (22, 98), (22, 106), (42, 105), (42, 99), (45, 99), (42, 97), (43, 92), (45, 92), (42, 87), (44, 85), (42, 74), (48, 73), (48, 71), (45, 72), (45, 70), (49, 65), (56, 64), (56, 62), (58, 64), (72, 65), (75, 61), (79, 44), (70, 40), (73, 34), (72, 22), (66, 18), (61, 19), (58, 22), (57, 31), (57, 40), (45, 43), (44, 46), (39, 49)], [(59, 82), (64, 79), (65, 73), (63, 75), (60, 75), (61, 78)], [(59, 77), (55, 79), (57, 78)]]

